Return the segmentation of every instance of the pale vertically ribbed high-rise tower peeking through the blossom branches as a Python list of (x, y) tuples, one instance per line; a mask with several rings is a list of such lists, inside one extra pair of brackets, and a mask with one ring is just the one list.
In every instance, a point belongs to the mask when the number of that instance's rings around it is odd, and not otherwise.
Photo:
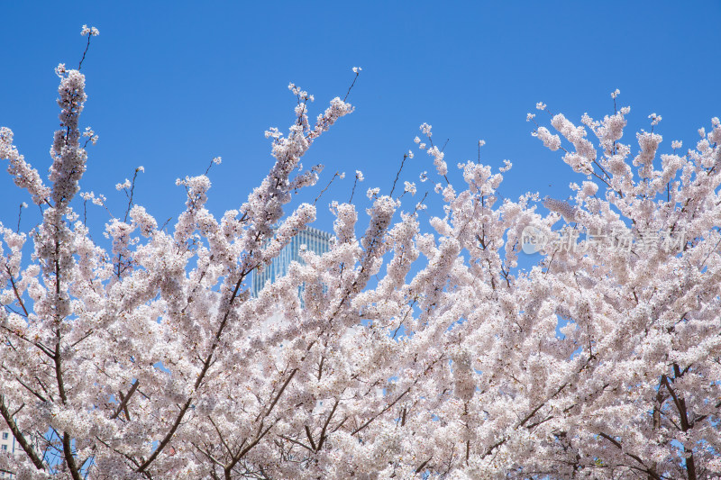
[[(262, 290), (266, 283), (273, 283), (278, 278), (287, 275), (287, 270), (291, 262), (297, 261), (303, 263), (300, 258), (300, 248), (302, 245), (305, 245), (309, 251), (322, 255), (331, 249), (331, 234), (312, 227), (306, 227), (305, 231), (298, 233), (290, 240), (290, 243), (280, 250), (278, 257), (273, 258), (270, 265), (263, 268), (260, 274), (257, 270), (253, 272), (251, 285), (251, 293), (253, 296), (258, 296), (260, 290)], [(298, 294), (302, 294), (302, 288), (298, 290)]]

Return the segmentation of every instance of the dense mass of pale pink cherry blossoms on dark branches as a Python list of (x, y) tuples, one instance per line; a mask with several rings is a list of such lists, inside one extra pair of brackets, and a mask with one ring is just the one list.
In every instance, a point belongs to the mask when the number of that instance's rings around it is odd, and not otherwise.
[[(435, 173), (421, 181), (432, 179), (437, 195), (419, 202), (415, 183), (401, 180), (391, 195), (371, 187), (367, 213), (333, 202), (330, 251), (306, 250), (302, 265), (253, 297), (251, 272), (314, 222), (315, 205), (286, 209), (321, 172), (300, 160), (351, 104), (336, 97), (311, 122), (312, 95), (291, 84), (296, 120), (287, 133), (267, 132), (274, 164), (245, 203), (218, 218), (205, 206), (208, 172), (184, 177), (175, 225), (131, 202), (107, 222), (104, 243), (76, 212), (83, 201), (105, 204), (78, 195), (93, 168), (87, 141), (97, 140), (80, 131), (86, 78), (56, 71), (50, 175), (0, 129), (0, 158), (42, 211), (32, 231), (0, 224), (0, 428), (19, 445), (0, 454), (0, 471), (74, 480), (721, 475), (717, 118), (681, 152), (676, 140), (663, 149), (658, 115), (656, 131), (625, 143), (627, 107), (580, 125), (549, 115), (542, 126), (539, 103), (528, 114), (534, 135), (582, 176), (575, 196), (545, 208), (538, 195), (499, 199), (509, 162), (497, 173), (472, 161), (449, 169), (424, 123), (415, 143)], [(362, 180), (356, 171), (353, 191)], [(132, 197), (133, 186), (117, 188)], [(443, 216), (422, 222), (432, 201)], [(529, 226), (571, 240), (546, 245), (526, 271), (518, 262)], [(664, 242), (618, 248), (651, 233)]]

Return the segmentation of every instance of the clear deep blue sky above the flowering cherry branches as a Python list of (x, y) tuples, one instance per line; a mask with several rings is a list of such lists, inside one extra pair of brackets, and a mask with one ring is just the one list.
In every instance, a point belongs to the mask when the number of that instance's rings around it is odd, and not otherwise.
[[(122, 214), (114, 185), (142, 165), (136, 200), (160, 223), (182, 207), (175, 179), (202, 173), (215, 156), (224, 163), (211, 170), (210, 208), (220, 214), (242, 204), (271, 165), (263, 131), (287, 131), (292, 122), (287, 84), (315, 95), (315, 118), (345, 94), (354, 66), (363, 68), (349, 97), (356, 112), (304, 159), (326, 165), (321, 186), (336, 170), (349, 173), (324, 201), (347, 200), (355, 169), (366, 176), (356, 198), (365, 200), (370, 186), (388, 193), (422, 122), (434, 126), (436, 143), (450, 139), (446, 159), (457, 182), (454, 166), (475, 159), (483, 139), (484, 163), (514, 163), (504, 195), (564, 198), (569, 182), (583, 177), (531, 136), (525, 113), (536, 102), (579, 122), (584, 112), (612, 112), (609, 93), (619, 88), (619, 103), (632, 106), (630, 127), (648, 128), (649, 113), (662, 115), (656, 131), (666, 151), (671, 140), (691, 146), (696, 130), (721, 116), (718, 1), (62, 5), (4, 3), (0, 125), (13, 129), (18, 148), (45, 175), (58, 123), (53, 68), (77, 66), (80, 27), (96, 26), (100, 36), (83, 65), (81, 121), (100, 141), (89, 149), (84, 190), (107, 195)], [(431, 158), (416, 154), (404, 177), (417, 180), (423, 170), (433, 172)], [(418, 186), (419, 195), (432, 187)], [(30, 203), (0, 176), (0, 221), (14, 225), (22, 201)], [(98, 208), (91, 215), (107, 218)], [(319, 208), (315, 226), (329, 230), (331, 221)], [(26, 228), (32, 223), (23, 218)]]

